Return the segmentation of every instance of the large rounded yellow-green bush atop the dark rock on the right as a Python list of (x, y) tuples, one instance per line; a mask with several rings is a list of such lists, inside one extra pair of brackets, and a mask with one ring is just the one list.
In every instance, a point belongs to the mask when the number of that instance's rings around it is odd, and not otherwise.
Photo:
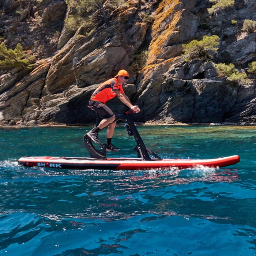
[(218, 45), (218, 35), (212, 35), (211, 37), (205, 35), (200, 41), (193, 40), (189, 44), (182, 45), (184, 48), (183, 55), (187, 55), (185, 57), (186, 61), (192, 59), (203, 59), (204, 57), (208, 57), (210, 52), (217, 53), (219, 49)]

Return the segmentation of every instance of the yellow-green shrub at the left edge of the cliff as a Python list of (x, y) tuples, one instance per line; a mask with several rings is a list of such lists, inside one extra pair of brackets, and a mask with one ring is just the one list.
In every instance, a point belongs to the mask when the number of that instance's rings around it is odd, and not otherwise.
[(23, 50), (20, 44), (17, 44), (14, 50), (8, 50), (4, 43), (0, 44), (0, 56), (4, 57), (4, 60), (0, 60), (0, 67), (12, 68), (12, 67), (26, 67), (29, 60), (23, 59)]

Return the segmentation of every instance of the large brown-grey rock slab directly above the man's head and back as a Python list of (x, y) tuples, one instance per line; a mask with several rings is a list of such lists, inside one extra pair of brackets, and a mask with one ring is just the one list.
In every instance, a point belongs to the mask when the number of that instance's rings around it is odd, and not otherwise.
[[(127, 68), (131, 57), (142, 45), (147, 25), (140, 20), (137, 8), (122, 12), (120, 20), (113, 26), (98, 29), (85, 39), (75, 52), (74, 72), (79, 87), (101, 83)], [(128, 27), (121, 30), (122, 23)], [(116, 29), (118, 27), (118, 29)], [(129, 71), (129, 68), (128, 68)], [(131, 81), (133, 82), (133, 81)]]

